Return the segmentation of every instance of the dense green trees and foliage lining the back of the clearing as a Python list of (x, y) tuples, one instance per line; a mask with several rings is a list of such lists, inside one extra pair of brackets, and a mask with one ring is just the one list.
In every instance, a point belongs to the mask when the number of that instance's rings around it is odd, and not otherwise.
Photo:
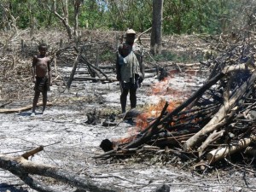
[[(50, 0), (2, 0), (1, 30), (59, 27), (61, 20), (51, 10)], [(79, 4), (79, 15), (75, 5)], [(67, 5), (67, 9), (63, 8)], [(164, 2), (165, 34), (220, 33), (253, 30), (255, 0), (168, 0)], [(143, 32), (152, 25), (152, 1), (146, 0), (60, 0), (56, 13), (77, 27), (125, 31), (128, 27)], [(65, 16), (65, 14), (68, 15)], [(66, 20), (65, 19), (65, 20)], [(63, 23), (63, 20), (62, 20)]]

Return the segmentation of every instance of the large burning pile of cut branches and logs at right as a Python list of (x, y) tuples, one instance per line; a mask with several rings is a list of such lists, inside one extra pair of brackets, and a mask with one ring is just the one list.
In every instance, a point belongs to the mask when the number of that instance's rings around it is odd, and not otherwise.
[(129, 142), (103, 140), (105, 153), (96, 158), (162, 152), (194, 166), (210, 166), (232, 154), (256, 154), (254, 53), (253, 44), (243, 40), (211, 55), (201, 62), (211, 73), (193, 95), (171, 112), (166, 102), (160, 116)]

